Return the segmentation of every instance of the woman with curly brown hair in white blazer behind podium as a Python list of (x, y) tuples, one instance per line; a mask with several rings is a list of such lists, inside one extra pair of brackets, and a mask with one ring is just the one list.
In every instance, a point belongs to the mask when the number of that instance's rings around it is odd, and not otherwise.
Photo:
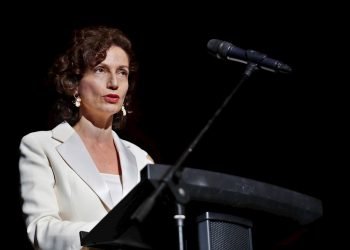
[(127, 115), (136, 71), (118, 29), (78, 30), (51, 70), (62, 122), (23, 137), (19, 161), (23, 213), (36, 249), (81, 249), (90, 231), (153, 163), (113, 131)]

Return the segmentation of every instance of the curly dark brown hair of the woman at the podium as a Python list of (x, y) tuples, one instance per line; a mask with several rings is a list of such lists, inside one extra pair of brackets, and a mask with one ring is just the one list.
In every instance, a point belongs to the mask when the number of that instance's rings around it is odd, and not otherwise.
[[(112, 46), (122, 48), (129, 57), (129, 90), (124, 106), (130, 112), (131, 93), (136, 82), (137, 63), (129, 38), (119, 29), (92, 26), (74, 31), (71, 46), (59, 56), (50, 69), (49, 76), (59, 98), (55, 104), (54, 123), (67, 121), (74, 125), (79, 119), (79, 109), (73, 105), (74, 91), (84, 73), (101, 63)], [(113, 128), (124, 126), (127, 116), (114, 115)]]

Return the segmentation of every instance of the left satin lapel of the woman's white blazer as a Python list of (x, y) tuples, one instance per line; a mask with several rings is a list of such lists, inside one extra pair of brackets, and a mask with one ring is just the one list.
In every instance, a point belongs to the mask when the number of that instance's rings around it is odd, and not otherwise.
[(53, 130), (53, 137), (63, 142), (57, 147), (62, 158), (99, 196), (105, 206), (111, 209), (113, 203), (109, 189), (75, 130), (68, 123), (63, 123)]

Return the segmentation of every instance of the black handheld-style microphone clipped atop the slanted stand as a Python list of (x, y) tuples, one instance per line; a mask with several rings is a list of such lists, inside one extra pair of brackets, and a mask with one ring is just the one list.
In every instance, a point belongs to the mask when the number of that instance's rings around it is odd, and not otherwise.
[(261, 69), (289, 73), (292, 68), (278, 60), (267, 57), (267, 55), (254, 50), (244, 50), (229, 42), (211, 39), (207, 44), (210, 54), (219, 59), (227, 59), (241, 63), (256, 63)]

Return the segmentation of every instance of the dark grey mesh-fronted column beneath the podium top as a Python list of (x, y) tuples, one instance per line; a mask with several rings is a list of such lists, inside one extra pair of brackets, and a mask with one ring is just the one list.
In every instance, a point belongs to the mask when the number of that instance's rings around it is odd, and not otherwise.
[(253, 223), (230, 214), (205, 212), (198, 216), (199, 250), (252, 250)]

